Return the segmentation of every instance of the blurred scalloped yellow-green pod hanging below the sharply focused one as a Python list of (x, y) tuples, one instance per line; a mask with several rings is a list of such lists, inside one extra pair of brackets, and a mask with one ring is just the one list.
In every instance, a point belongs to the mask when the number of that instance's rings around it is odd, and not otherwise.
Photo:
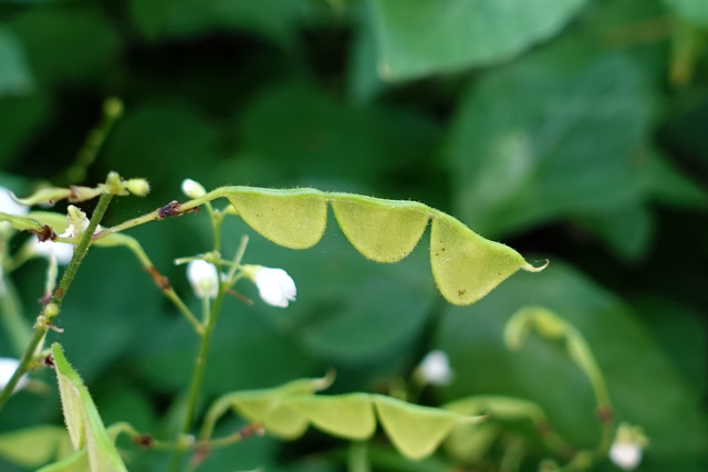
[(226, 395), (209, 408), (201, 438), (208, 439), (219, 418), (233, 409), (282, 439), (296, 439), (312, 424), (329, 434), (361, 441), (376, 431), (376, 411), (396, 449), (408, 459), (419, 460), (430, 455), (456, 424), (481, 419), (381, 395), (314, 395), (313, 382), (319, 389), (326, 381), (302, 379), (271, 389)]

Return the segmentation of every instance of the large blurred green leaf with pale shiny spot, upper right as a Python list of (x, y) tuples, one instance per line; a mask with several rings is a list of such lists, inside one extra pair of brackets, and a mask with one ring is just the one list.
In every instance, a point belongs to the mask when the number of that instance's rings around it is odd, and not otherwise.
[(644, 204), (648, 112), (638, 66), (576, 39), (488, 74), (449, 146), (461, 219), (496, 237)]

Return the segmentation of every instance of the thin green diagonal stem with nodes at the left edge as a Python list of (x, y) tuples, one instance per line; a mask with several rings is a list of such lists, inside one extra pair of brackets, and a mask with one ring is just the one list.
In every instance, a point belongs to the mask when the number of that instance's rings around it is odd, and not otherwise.
[[(111, 179), (111, 177), (108, 178)], [(91, 217), (91, 221), (88, 221), (88, 228), (86, 228), (81, 237), (81, 241), (79, 241), (79, 244), (74, 249), (74, 255), (72, 256), (69, 266), (64, 271), (62, 280), (59, 282), (59, 287), (54, 291), (52, 301), (42, 310), (42, 312), (40, 312), (39, 316), (37, 317), (37, 322), (34, 323), (34, 335), (30, 339), (30, 344), (24, 349), (24, 354), (20, 359), (20, 365), (10, 378), (10, 381), (8, 381), (8, 385), (0, 392), (0, 409), (2, 409), (4, 403), (8, 401), (10, 395), (12, 395), (12, 391), (20, 381), (20, 378), (29, 370), (30, 364), (32, 363), (32, 359), (34, 357), (34, 353), (44, 339), (46, 332), (50, 329), (52, 319), (59, 315), (64, 295), (66, 294), (66, 291), (76, 276), (76, 272), (79, 271), (79, 268), (81, 266), (86, 252), (88, 252), (91, 237), (103, 219), (103, 216), (105, 214), (112, 199), (113, 193), (104, 193), (98, 199), (98, 203), (96, 204), (96, 208)]]

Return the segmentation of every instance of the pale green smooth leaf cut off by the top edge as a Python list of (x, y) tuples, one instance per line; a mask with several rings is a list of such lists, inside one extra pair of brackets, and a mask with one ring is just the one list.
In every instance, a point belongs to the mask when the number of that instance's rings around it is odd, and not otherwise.
[(371, 0), (378, 71), (406, 80), (508, 60), (563, 28), (585, 0)]

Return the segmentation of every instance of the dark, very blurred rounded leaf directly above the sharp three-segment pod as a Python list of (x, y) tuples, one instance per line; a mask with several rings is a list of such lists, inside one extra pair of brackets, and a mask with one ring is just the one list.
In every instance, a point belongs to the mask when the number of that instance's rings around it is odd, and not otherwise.
[[(239, 159), (258, 175), (239, 172), (249, 185), (331, 185), (347, 190), (352, 182), (391, 188), (393, 177), (425, 169), (439, 138), (439, 127), (415, 112), (342, 105), (309, 84), (269, 90), (244, 111)], [(241, 162), (244, 165), (246, 162)], [(388, 183), (388, 185), (386, 185)], [(407, 195), (409, 197), (409, 195)]]

